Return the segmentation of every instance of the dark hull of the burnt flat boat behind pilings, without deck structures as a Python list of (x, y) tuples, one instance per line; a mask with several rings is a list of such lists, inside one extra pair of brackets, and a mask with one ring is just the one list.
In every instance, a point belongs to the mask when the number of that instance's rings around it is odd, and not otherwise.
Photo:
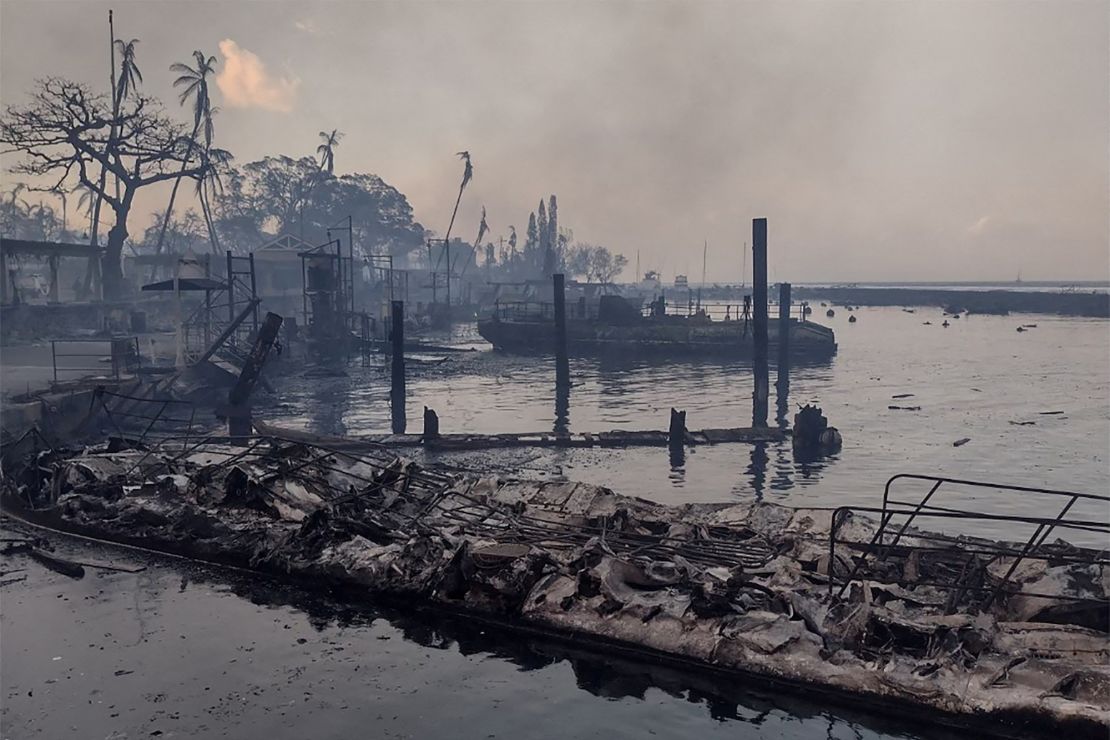
[[(552, 321), (500, 317), (478, 321), (478, 334), (495, 349), (521, 354), (549, 353), (555, 346)], [(771, 356), (777, 356), (778, 326), (768, 327)], [(790, 356), (826, 359), (836, 354), (833, 330), (813, 322), (790, 322)], [(750, 357), (754, 331), (743, 321), (697, 321), (679, 316), (628, 323), (567, 321), (567, 352), (575, 355), (657, 353), (719, 357)]]

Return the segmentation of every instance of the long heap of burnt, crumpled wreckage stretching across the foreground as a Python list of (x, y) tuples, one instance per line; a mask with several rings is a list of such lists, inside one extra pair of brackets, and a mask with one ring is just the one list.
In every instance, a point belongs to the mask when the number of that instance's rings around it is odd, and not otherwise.
[(274, 437), (52, 448), (6, 460), (3, 487), (59, 529), (935, 719), (1110, 721), (1107, 553), (1048, 527), (1027, 547), (926, 533), (894, 504), (668, 507)]

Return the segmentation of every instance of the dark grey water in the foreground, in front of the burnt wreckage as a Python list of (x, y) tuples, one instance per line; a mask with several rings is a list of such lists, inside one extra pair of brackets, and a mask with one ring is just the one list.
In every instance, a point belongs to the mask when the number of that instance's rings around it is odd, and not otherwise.
[(56, 541), (147, 570), (73, 581), (6, 559), (27, 580), (0, 599), (3, 738), (958, 737), (761, 682)]

